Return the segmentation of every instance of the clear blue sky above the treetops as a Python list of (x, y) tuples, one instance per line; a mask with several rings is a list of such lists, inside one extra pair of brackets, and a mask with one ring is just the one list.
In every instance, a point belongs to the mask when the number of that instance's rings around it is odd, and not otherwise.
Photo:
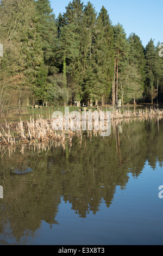
[[(72, 0), (50, 0), (51, 7), (55, 17), (59, 13), (65, 13), (65, 7)], [(82, 1), (84, 5), (88, 1)], [(130, 33), (138, 35), (143, 46), (148, 44), (148, 41), (154, 39), (154, 44), (163, 42), (163, 1), (162, 0), (90, 0), (95, 7), (97, 13), (102, 8), (102, 5), (108, 11), (112, 25), (120, 22), (126, 31), (127, 36)]]

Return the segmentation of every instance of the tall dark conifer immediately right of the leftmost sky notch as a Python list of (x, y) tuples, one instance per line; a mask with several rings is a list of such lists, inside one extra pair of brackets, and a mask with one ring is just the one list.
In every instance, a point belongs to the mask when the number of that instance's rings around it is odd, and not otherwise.
[[(62, 58), (66, 56), (66, 71), (67, 71), (67, 85), (71, 88), (72, 94), (78, 101), (80, 105), (80, 100), (82, 99), (81, 90), (81, 72), (80, 72), (80, 40), (82, 39), (82, 16), (83, 16), (83, 3), (80, 0), (73, 0), (66, 7), (66, 13), (63, 15), (64, 25), (60, 29), (60, 39), (62, 44), (62, 39), (65, 41), (65, 46), (60, 47), (62, 50)], [(61, 19), (60, 19), (61, 20)], [(64, 39), (65, 38), (65, 39)], [(67, 50), (66, 50), (67, 49)]]

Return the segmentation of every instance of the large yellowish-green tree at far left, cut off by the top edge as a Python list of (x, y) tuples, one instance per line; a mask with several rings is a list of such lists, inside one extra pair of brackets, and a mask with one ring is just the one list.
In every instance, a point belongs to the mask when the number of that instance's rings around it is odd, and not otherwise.
[(12, 104), (15, 102), (22, 107), (28, 103), (32, 92), (32, 81), (37, 73), (35, 67), (39, 68), (42, 61), (34, 26), (35, 4), (33, 0), (3, 0), (0, 8), (3, 31), (0, 40), (4, 45), (1, 84), (9, 81)]

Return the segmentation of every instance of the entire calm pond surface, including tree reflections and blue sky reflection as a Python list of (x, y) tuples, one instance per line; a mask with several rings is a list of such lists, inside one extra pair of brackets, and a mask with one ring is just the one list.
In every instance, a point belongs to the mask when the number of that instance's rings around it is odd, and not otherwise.
[[(162, 142), (154, 118), (71, 148), (1, 147), (0, 244), (163, 245)], [(10, 173), (21, 166), (33, 172)]]

